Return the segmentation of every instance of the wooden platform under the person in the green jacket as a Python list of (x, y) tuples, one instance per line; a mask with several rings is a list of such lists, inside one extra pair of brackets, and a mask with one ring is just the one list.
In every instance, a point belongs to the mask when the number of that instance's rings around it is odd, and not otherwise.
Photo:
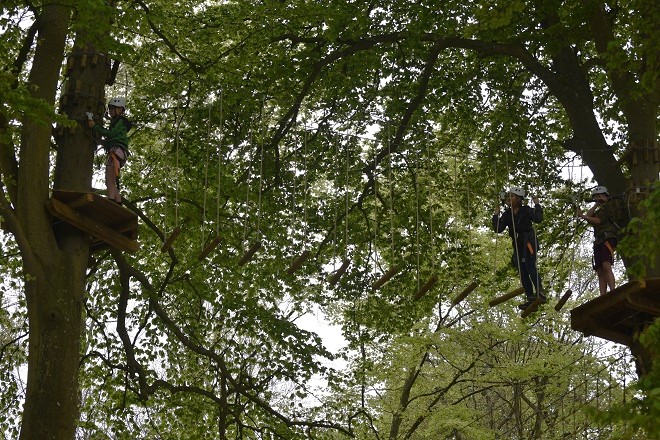
[(137, 215), (95, 193), (54, 190), (47, 204), (55, 217), (92, 236), (91, 251), (108, 247), (135, 252)]

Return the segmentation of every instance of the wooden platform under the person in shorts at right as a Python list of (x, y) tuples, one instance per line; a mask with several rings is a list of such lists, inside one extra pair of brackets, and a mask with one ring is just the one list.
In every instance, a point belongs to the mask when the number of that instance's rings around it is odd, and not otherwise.
[(660, 317), (660, 278), (630, 281), (571, 310), (571, 327), (631, 346), (638, 326)]

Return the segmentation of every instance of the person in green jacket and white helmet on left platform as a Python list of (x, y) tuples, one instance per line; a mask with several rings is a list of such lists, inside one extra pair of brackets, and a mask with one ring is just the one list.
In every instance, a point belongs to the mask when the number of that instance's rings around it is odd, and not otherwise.
[(105, 185), (108, 198), (115, 203), (121, 204), (119, 193), (119, 170), (126, 163), (128, 152), (128, 132), (133, 126), (125, 116), (126, 99), (123, 97), (112, 98), (108, 103), (106, 117), (110, 119), (108, 128), (104, 128), (94, 122), (88, 114), (87, 124), (96, 133), (103, 137), (101, 144), (107, 154), (105, 163)]

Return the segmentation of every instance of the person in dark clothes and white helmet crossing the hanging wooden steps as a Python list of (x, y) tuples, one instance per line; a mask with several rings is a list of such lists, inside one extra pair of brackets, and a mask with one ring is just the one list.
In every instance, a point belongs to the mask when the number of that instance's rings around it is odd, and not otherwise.
[(500, 215), (500, 206), (497, 205), (493, 214), (493, 230), (503, 232), (508, 228), (513, 244), (511, 264), (518, 270), (520, 282), (525, 289), (527, 300), (518, 307), (525, 310), (537, 298), (545, 302), (541, 285), (541, 276), (536, 268), (536, 255), (538, 253), (538, 240), (532, 223), (543, 221), (543, 207), (537, 197), (533, 198), (534, 207), (524, 203), (525, 190), (514, 186), (505, 193), (507, 208)]

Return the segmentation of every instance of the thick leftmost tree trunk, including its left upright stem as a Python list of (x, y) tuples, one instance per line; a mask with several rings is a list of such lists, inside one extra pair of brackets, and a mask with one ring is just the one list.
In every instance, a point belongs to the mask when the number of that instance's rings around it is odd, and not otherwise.
[[(37, 17), (29, 75), (32, 96), (54, 105), (71, 9), (53, 2)], [(21, 439), (73, 439), (78, 418), (77, 372), (84, 249), (58, 249), (46, 211), (51, 124), (25, 118), (16, 198), (28, 308), (28, 378)], [(78, 234), (79, 236), (79, 234)]]

